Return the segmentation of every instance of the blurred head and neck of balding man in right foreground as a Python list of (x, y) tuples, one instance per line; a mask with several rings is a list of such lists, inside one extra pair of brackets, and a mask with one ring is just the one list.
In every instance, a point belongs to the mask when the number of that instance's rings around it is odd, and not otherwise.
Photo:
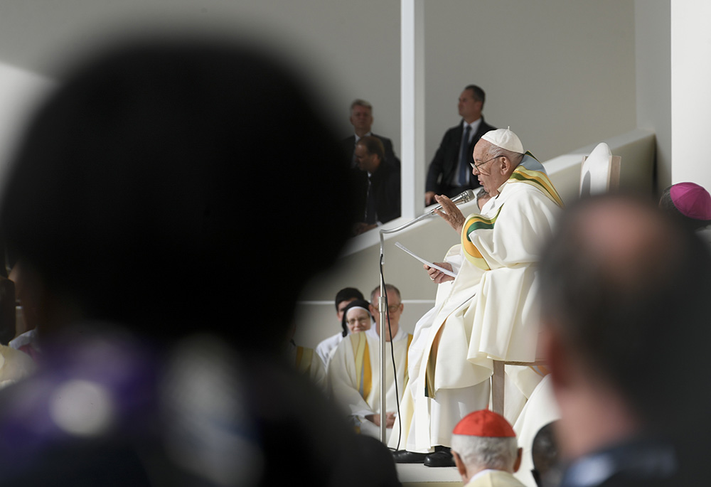
[(703, 427), (711, 259), (693, 232), (646, 201), (581, 200), (545, 247), (540, 286), (562, 454)]

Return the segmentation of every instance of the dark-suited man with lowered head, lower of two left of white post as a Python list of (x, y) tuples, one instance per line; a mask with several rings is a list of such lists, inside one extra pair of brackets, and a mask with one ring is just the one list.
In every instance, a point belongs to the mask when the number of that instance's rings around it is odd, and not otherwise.
[(400, 166), (390, 163), (378, 137), (363, 137), (355, 144), (355, 161), (365, 175), (355, 201), (360, 218), (353, 233), (358, 235), (400, 216)]

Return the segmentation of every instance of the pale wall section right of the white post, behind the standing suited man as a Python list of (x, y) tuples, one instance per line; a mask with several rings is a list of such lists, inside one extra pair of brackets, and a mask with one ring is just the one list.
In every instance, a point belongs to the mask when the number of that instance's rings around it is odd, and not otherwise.
[(545, 161), (636, 127), (634, 3), (425, 2), (427, 160), (469, 83)]

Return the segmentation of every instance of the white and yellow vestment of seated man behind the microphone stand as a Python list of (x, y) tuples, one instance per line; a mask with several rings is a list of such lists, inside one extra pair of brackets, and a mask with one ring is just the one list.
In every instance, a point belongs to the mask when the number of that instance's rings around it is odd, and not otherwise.
[[(385, 407), (387, 412), (397, 412), (397, 402), (407, 383), (407, 347), (412, 335), (400, 328), (390, 343), (385, 344)], [(392, 357), (397, 375), (393, 375)], [(338, 344), (328, 364), (328, 385), (331, 397), (343, 410), (358, 419), (361, 432), (378, 437), (378, 428), (365, 416), (380, 414), (380, 337), (375, 326), (368, 331), (353, 333)], [(397, 376), (397, 394), (395, 392)], [(370, 427), (373, 428), (370, 428)]]

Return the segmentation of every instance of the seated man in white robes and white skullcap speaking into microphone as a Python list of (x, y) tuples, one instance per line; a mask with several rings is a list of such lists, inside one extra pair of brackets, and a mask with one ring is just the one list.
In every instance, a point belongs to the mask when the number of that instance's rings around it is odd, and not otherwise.
[[(390, 441), (395, 446), (400, 437), (405, 446), (394, 454), (400, 463), (454, 466), (452, 429), (466, 412), (488, 407), (493, 360), (535, 360), (536, 267), (562, 202), (545, 168), (509, 129), (476, 143), (472, 174), (483, 188), (479, 213), (465, 218), (447, 196), (435, 197), (442, 205), (437, 214), (460, 236), (437, 265), (456, 277), (425, 265), (439, 286), (408, 355), (402, 431)], [(540, 380), (531, 368), (507, 373), (521, 401)]]

